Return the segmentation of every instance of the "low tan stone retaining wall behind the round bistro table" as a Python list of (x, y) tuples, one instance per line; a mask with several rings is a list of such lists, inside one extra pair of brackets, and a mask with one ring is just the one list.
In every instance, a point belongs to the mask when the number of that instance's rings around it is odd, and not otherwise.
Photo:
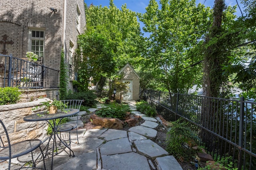
[[(23, 120), (26, 115), (35, 113), (32, 108), (41, 105), (40, 102), (45, 102), (46, 99), (48, 98), (0, 106), (0, 119), (6, 126), (11, 143), (27, 139), (46, 139), (48, 128), (46, 121), (27, 122)], [(3, 133), (3, 129), (0, 129), (0, 133)]]

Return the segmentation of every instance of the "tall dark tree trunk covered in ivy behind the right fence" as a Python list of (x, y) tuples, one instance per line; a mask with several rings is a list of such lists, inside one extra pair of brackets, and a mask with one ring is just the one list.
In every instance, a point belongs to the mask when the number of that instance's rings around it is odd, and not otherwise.
[(228, 64), (228, 56), (235, 55), (232, 48), (239, 42), (231, 26), (236, 7), (226, 8), (224, 0), (216, 0), (213, 21), (205, 38), (204, 92), (206, 96), (228, 97), (230, 85), (228, 76), (222, 75), (222, 64)]

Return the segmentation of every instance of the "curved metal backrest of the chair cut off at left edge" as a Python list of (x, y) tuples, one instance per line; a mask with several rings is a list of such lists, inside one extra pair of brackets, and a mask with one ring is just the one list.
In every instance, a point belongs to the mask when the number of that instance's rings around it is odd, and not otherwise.
[[(7, 132), (6, 127), (4, 126), (3, 121), (0, 119), (0, 150), (6, 148), (9, 150), (9, 167), (10, 167), (10, 162), (11, 162), (11, 156), (12, 156), (12, 152), (11, 152), (11, 143), (10, 143), (10, 138)], [(6, 160), (6, 155), (0, 155), (0, 160)], [(2, 162), (2, 161), (0, 161)]]

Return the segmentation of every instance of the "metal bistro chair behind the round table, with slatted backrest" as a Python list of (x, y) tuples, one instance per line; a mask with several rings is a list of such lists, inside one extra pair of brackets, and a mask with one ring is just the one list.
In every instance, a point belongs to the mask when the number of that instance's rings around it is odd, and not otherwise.
[[(62, 102), (64, 104), (66, 104), (65, 109), (79, 109), (80, 110), (80, 106), (81, 106), (82, 102), (84, 102), (84, 100), (62, 100)], [(76, 129), (77, 144), (79, 144), (78, 132), (77, 132), (78, 117), (79, 117), (78, 113), (75, 115), (72, 115), (71, 117), (65, 117), (71, 121), (61, 124), (57, 128), (57, 131), (60, 132), (60, 137), (61, 137), (62, 132), (69, 132), (69, 144), (71, 143), (70, 131), (72, 131), (73, 129)]]

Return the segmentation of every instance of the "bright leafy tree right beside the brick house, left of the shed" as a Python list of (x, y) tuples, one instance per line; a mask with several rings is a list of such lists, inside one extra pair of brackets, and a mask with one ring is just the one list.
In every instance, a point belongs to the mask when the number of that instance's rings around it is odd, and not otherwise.
[(78, 80), (88, 87), (91, 78), (97, 82), (106, 80), (103, 77), (115, 76), (127, 62), (136, 63), (143, 38), (136, 13), (127, 9), (126, 4), (119, 10), (113, 0), (109, 8), (86, 6), (86, 22), (86, 31), (78, 36), (82, 53), (76, 58), (80, 63)]

